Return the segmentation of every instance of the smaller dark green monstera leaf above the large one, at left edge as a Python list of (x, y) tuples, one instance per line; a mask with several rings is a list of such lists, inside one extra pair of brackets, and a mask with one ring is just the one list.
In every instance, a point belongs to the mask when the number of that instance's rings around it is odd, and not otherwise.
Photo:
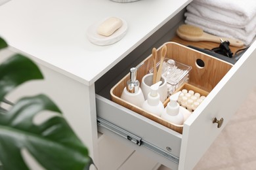
[(18, 85), (35, 79), (42, 79), (41, 71), (32, 60), (15, 54), (0, 65), (0, 101)]

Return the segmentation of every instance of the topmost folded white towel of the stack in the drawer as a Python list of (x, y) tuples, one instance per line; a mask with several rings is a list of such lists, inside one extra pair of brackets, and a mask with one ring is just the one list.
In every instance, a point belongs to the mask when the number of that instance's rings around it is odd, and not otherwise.
[(239, 22), (249, 22), (256, 15), (255, 0), (194, 0), (192, 4), (207, 5), (215, 11), (223, 12), (229, 17), (242, 18)]

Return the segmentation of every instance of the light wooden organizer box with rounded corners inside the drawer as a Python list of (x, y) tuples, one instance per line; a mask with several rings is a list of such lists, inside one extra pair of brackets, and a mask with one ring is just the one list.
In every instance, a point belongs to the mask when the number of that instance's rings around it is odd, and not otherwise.
[[(175, 61), (179, 61), (180, 63), (192, 66), (192, 70), (189, 73), (188, 84), (186, 85), (186, 87), (189, 86), (191, 90), (202, 90), (205, 94), (211, 92), (211, 90), (217, 85), (221, 78), (223, 78), (223, 76), (226, 75), (226, 73), (232, 67), (232, 64), (230, 63), (213, 58), (211, 56), (208, 56), (207, 54), (197, 52), (196, 50), (192, 50), (191, 48), (188, 48), (176, 42), (166, 42), (165, 45), (167, 46), (167, 54), (165, 58), (174, 59)], [(158, 61), (160, 61), (161, 47), (157, 50)], [(203, 61), (204, 67), (199, 67), (196, 63), (197, 61)], [(136, 65), (134, 65), (134, 67), (135, 66)], [(144, 60), (144, 65), (142, 65), (142, 67), (140, 67), (137, 71), (137, 80), (141, 82), (142, 77), (148, 74), (148, 71), (152, 67), (153, 59), (152, 55), (150, 55)], [(120, 96), (123, 92), (123, 88), (125, 88), (126, 86), (127, 80), (129, 80), (129, 73), (110, 90), (112, 101), (118, 103), (119, 105), (122, 105), (123, 107), (126, 107), (127, 109), (133, 110), (134, 112), (137, 112), (138, 114), (141, 114), (142, 116), (145, 116), (150, 120), (154, 120), (155, 122), (158, 122), (163, 126), (169, 127), (174, 131), (182, 133), (183, 126), (167, 122), (163, 120), (160, 116), (156, 116), (154, 114), (151, 114), (150, 112), (146, 112), (140, 107), (137, 107), (121, 99)], [(198, 90), (196, 90), (196, 92), (198, 92)], [(164, 102), (165, 105), (167, 104), (168, 100), (169, 99)]]

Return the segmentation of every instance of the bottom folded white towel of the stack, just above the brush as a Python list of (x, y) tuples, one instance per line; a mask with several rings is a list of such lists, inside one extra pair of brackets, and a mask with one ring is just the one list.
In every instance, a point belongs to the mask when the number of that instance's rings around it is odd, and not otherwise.
[(256, 29), (253, 29), (250, 33), (246, 33), (244, 29), (221, 25), (212, 20), (200, 18), (200, 16), (196, 16), (190, 12), (186, 12), (184, 15), (186, 16), (186, 24), (196, 25), (202, 28), (203, 31), (219, 37), (239, 39), (243, 41), (245, 45), (251, 44), (256, 35)]

